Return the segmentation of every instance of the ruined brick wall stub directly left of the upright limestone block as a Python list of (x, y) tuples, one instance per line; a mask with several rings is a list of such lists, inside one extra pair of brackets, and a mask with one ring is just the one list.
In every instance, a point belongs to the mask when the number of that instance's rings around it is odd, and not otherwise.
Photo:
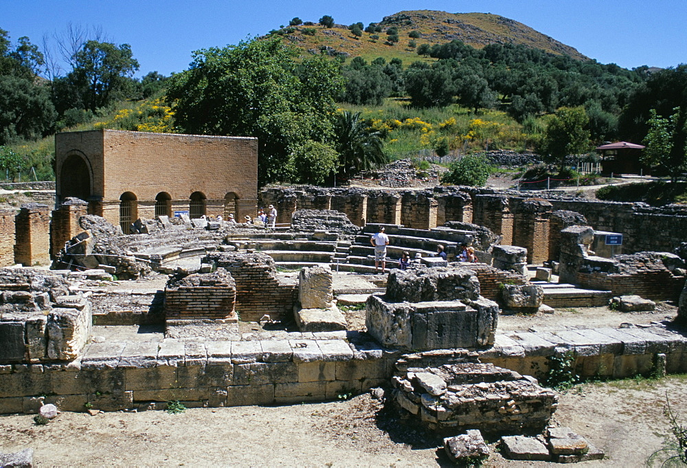
[(203, 258), (229, 271), (236, 281), (236, 313), (244, 322), (258, 322), (267, 314), (271, 320), (292, 320), (298, 300), (298, 280), (277, 276), (274, 260), (267, 254), (216, 252)]

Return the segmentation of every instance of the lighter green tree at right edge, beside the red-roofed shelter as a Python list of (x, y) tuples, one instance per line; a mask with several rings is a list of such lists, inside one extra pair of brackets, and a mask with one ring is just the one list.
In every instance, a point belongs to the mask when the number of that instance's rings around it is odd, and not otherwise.
[[(644, 137), (642, 162), (648, 166), (661, 166), (674, 184), (687, 170), (687, 145), (680, 133), (687, 131), (684, 111), (673, 109), (669, 117), (661, 117), (655, 109), (649, 111), (649, 132)], [(682, 129), (682, 132), (680, 131)]]

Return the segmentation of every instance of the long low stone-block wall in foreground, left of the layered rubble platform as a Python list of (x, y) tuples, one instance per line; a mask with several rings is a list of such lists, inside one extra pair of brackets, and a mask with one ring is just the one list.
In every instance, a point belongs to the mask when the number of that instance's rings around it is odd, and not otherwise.
[[(301, 335), (297, 333), (296, 335)], [(335, 400), (390, 377), (395, 357), (345, 332), (251, 342), (104, 342), (65, 364), (0, 366), (0, 414), (271, 405)], [(313, 339), (315, 337), (315, 339)], [(47, 397), (45, 397), (47, 395)]]

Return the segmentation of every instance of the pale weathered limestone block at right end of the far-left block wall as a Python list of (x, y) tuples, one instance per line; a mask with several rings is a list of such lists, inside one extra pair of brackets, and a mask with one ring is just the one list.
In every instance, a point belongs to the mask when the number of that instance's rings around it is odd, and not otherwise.
[(47, 355), (50, 359), (78, 357), (91, 334), (91, 307), (52, 309), (47, 316)]

